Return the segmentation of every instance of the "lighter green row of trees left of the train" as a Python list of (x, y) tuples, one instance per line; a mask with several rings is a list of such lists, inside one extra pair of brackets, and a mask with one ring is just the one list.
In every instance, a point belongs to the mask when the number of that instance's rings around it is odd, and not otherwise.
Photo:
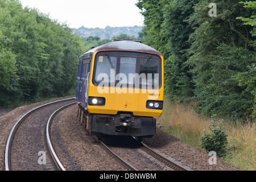
[(66, 24), (0, 0), (0, 107), (73, 93), (84, 49)]

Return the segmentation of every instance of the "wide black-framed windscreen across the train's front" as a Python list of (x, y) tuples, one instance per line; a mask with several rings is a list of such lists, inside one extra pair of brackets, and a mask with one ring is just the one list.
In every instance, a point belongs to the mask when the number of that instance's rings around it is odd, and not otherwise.
[(149, 53), (100, 52), (94, 64), (93, 84), (158, 89), (161, 85), (161, 59)]

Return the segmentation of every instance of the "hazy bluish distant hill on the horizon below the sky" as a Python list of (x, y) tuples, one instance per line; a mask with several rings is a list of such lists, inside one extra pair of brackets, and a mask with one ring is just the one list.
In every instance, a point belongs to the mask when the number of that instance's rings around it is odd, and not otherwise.
[(74, 32), (80, 36), (99, 36), (101, 39), (111, 39), (113, 36), (120, 34), (127, 34), (129, 36), (138, 37), (138, 33), (142, 31), (142, 26), (133, 26), (133, 27), (110, 27), (106, 28), (85, 28), (84, 26), (80, 28), (74, 28)]

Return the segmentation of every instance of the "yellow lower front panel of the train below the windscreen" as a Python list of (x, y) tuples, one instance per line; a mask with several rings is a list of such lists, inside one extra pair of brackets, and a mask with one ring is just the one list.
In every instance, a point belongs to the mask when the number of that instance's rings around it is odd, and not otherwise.
[[(147, 90), (133, 89), (134, 93), (98, 93), (98, 87), (90, 85), (89, 97), (104, 97), (106, 99), (105, 106), (88, 106), (90, 113), (97, 114), (117, 114), (118, 111), (131, 112), (137, 116), (146, 116), (146, 117), (160, 117), (162, 110), (156, 109), (147, 109), (146, 104), (148, 100), (158, 100), (163, 101), (163, 89), (160, 89), (159, 92), (154, 93), (142, 93)], [(115, 89), (117, 92), (123, 91), (122, 89)], [(128, 90), (128, 89), (127, 89)], [(112, 90), (113, 91), (113, 90)]]

